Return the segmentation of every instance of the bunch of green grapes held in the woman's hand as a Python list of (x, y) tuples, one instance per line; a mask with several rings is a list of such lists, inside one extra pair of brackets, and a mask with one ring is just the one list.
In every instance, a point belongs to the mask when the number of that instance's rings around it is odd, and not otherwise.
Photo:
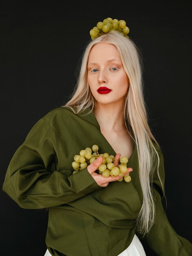
[(116, 177), (119, 175), (122, 177), (118, 181), (131, 181), (129, 173), (124, 175), (124, 173), (127, 171), (128, 157), (120, 157), (120, 164), (115, 166), (114, 161), (116, 161), (116, 159), (113, 155), (109, 155), (108, 153), (99, 154), (98, 150), (99, 147), (97, 145), (93, 145), (92, 148), (82, 149), (79, 152), (79, 155), (75, 155), (74, 161), (72, 162), (72, 167), (75, 170), (73, 171), (73, 174), (86, 168), (89, 164), (92, 164), (95, 159), (97, 159), (99, 156), (102, 156), (103, 162), (98, 167), (97, 173), (102, 174), (104, 177)]

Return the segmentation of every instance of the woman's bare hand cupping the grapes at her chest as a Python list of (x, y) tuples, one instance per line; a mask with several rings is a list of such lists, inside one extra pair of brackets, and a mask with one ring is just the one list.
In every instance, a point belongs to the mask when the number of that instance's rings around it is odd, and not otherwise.
[[(115, 165), (115, 167), (118, 165), (119, 162), (119, 158), (120, 158), (120, 154), (117, 154), (115, 156), (115, 159), (117, 159), (117, 161), (115, 160), (113, 162), (113, 164)], [(88, 172), (90, 173), (90, 175), (93, 177), (93, 179), (97, 182), (97, 184), (99, 186), (107, 186), (109, 182), (112, 181), (116, 181), (121, 179), (121, 177), (123, 177), (124, 175), (130, 173), (132, 171), (132, 168), (127, 168), (126, 173), (124, 173), (123, 176), (109, 176), (109, 177), (103, 177), (103, 175), (95, 173), (95, 171), (99, 168), (99, 166), (103, 163), (103, 157), (98, 157), (92, 164), (89, 164), (87, 167)]]

